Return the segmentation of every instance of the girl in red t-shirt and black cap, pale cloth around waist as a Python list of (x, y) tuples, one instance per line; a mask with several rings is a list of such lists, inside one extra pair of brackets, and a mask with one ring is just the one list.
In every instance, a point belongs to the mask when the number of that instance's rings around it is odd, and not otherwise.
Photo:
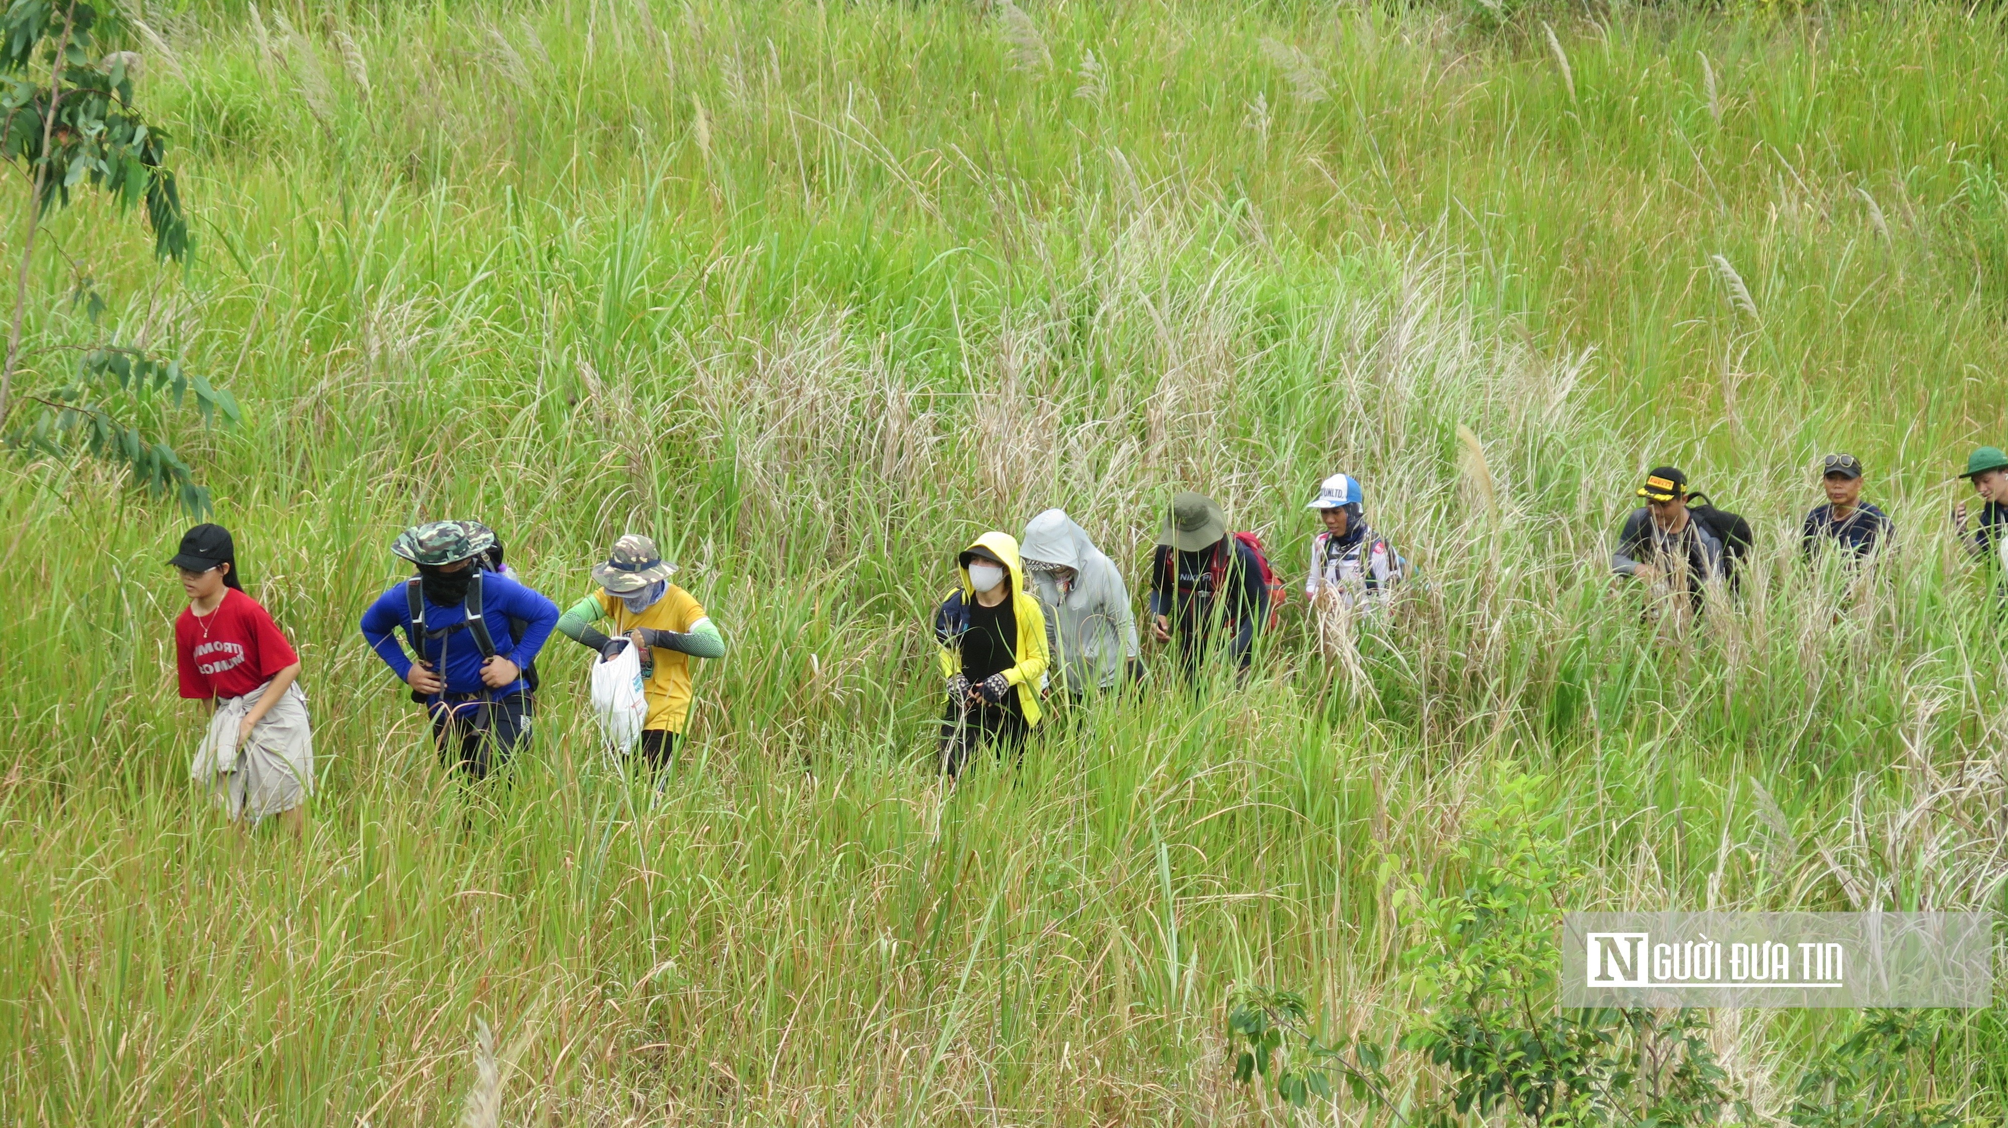
[(189, 594), (189, 608), (175, 620), (181, 696), (207, 700), (211, 715), (189, 771), (233, 821), (279, 815), (299, 835), (313, 791), (299, 654), (245, 594), (229, 530), (191, 528), (169, 564)]

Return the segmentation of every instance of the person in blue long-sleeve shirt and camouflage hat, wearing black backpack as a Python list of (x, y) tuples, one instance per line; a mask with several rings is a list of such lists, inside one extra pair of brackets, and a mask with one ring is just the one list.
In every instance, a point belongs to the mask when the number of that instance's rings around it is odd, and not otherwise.
[(492, 544), (478, 522), (406, 530), (392, 552), (418, 576), (378, 596), (361, 622), (369, 648), (424, 698), (440, 757), (474, 779), (530, 739), (524, 668), (558, 624), (558, 604), (482, 566)]

